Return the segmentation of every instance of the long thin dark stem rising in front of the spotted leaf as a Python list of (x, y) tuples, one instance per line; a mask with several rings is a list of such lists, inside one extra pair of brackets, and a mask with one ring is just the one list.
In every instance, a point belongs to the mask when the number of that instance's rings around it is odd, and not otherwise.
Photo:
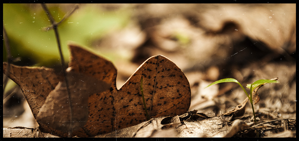
[(70, 121), (70, 127), (68, 130), (68, 137), (71, 137), (72, 134), (72, 123), (73, 123), (73, 107), (72, 107), (72, 101), (71, 101), (71, 93), (70, 90), (68, 88), (68, 79), (66, 78), (66, 70), (65, 70), (65, 66), (64, 66), (64, 58), (62, 55), (62, 51), (61, 51), (61, 46), (60, 46), (60, 38), (59, 38), (59, 34), (58, 34), (58, 29), (57, 29), (57, 22), (54, 20), (53, 16), (51, 15), (51, 13), (48, 10), (48, 7), (46, 6), (46, 4), (41, 4), (42, 8), (45, 10), (48, 18), (50, 19), (50, 22), (52, 24), (52, 27), (54, 29), (55, 35), (56, 35), (56, 40), (57, 40), (57, 45), (58, 45), (58, 49), (59, 49), (59, 53), (60, 53), (60, 58), (61, 58), (61, 66), (62, 66), (62, 72), (65, 78), (65, 84), (66, 84), (66, 89), (67, 89), (67, 93), (68, 93), (68, 103), (70, 106), (70, 116), (71, 116), (71, 121)]

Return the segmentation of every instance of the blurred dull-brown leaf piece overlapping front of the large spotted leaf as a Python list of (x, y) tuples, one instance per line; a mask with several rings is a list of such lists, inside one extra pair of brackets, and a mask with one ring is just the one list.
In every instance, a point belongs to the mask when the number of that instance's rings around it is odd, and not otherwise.
[(67, 70), (66, 77), (71, 96), (72, 112), (67, 87), (65, 82), (60, 81), (56, 88), (49, 93), (44, 105), (37, 114), (36, 120), (63, 132), (68, 132), (69, 128), (71, 128), (71, 131), (77, 131), (86, 124), (89, 95), (106, 91), (110, 88), (110, 84), (88, 75), (72, 72), (71, 69)]

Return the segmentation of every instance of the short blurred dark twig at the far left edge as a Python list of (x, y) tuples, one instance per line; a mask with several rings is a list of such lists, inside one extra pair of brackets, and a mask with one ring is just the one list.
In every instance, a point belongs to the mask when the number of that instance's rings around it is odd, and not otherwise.
[(4, 24), (3, 24), (3, 40), (4, 40), (4, 43), (5, 43), (6, 58), (7, 58), (7, 66), (6, 66), (6, 70), (5, 70), (5, 76), (3, 78), (3, 94), (4, 94), (4, 89), (5, 89), (5, 87), (7, 85), (7, 81), (8, 81), (8, 73), (10, 71), (10, 64), (13, 60), (12, 57), (11, 57), (9, 41), (8, 41), (6, 30), (4, 28)]

